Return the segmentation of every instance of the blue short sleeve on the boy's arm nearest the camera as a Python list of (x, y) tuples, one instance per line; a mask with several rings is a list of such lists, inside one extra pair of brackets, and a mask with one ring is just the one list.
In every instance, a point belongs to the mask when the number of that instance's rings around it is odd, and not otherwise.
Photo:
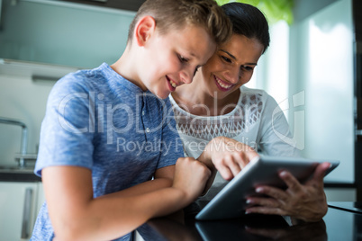
[(77, 165), (92, 168), (93, 113), (89, 90), (76, 76), (59, 80), (50, 92), (41, 123), (41, 140), (35, 174), (50, 165)]

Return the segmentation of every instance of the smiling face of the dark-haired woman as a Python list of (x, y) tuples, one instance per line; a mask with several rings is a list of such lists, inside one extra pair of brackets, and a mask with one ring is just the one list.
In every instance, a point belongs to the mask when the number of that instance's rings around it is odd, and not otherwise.
[(196, 73), (213, 98), (223, 99), (249, 82), (264, 46), (256, 39), (233, 34)]

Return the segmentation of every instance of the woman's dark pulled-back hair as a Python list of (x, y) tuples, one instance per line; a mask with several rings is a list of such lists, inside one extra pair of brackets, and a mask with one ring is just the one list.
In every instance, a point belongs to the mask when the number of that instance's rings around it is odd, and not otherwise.
[(267, 19), (257, 7), (250, 4), (230, 3), (222, 5), (232, 23), (232, 32), (249, 39), (257, 39), (264, 45), (263, 53), (270, 43)]

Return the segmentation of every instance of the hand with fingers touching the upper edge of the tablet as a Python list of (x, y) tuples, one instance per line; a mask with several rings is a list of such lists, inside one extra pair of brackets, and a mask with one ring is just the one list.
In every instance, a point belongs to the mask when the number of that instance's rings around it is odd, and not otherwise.
[(211, 169), (217, 169), (225, 180), (231, 180), (258, 153), (232, 138), (213, 138), (198, 158)]

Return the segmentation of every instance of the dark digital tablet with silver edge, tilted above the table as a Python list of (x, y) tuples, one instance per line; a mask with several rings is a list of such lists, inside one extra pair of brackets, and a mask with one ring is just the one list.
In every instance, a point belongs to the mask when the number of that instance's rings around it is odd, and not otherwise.
[(270, 185), (286, 189), (285, 183), (278, 176), (278, 172), (281, 170), (289, 171), (300, 183), (305, 183), (312, 177), (315, 167), (323, 162), (331, 164), (326, 174), (339, 165), (339, 161), (331, 160), (257, 156), (213, 197), (213, 200), (196, 215), (195, 219), (213, 220), (240, 217), (249, 205), (246, 203), (246, 198), (260, 195), (255, 192), (256, 186)]

